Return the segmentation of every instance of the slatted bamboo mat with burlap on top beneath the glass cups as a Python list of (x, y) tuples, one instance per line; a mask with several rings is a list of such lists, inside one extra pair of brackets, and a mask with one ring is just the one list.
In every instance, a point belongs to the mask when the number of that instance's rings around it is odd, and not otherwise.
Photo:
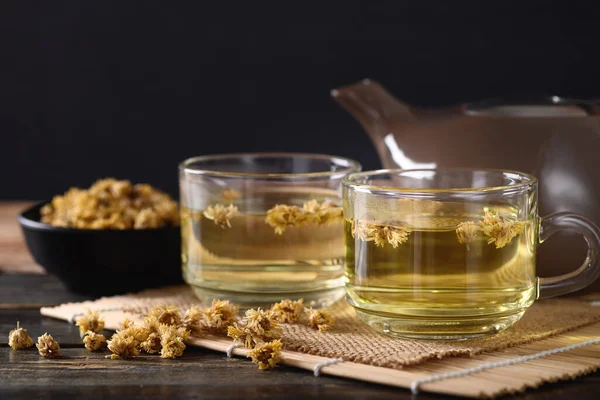
[[(42, 308), (41, 312), (72, 322), (90, 307), (101, 310), (106, 328), (114, 330), (126, 317), (141, 322), (140, 313), (157, 304), (183, 309), (198, 304), (198, 300), (187, 287), (170, 287)], [(345, 302), (332, 307), (333, 314), (340, 317), (331, 332), (284, 324), (282, 364), (313, 373), (317, 367), (320, 374), (412, 387), (415, 393), (421, 390), (473, 398), (517, 393), (600, 367), (600, 307), (588, 301), (541, 301), (514, 328), (491, 338), (464, 342), (392, 339), (362, 324)], [(233, 348), (225, 337), (192, 337), (189, 343), (238, 356), (247, 352)], [(546, 353), (538, 356), (540, 352)], [(496, 366), (498, 363), (513, 364)]]

